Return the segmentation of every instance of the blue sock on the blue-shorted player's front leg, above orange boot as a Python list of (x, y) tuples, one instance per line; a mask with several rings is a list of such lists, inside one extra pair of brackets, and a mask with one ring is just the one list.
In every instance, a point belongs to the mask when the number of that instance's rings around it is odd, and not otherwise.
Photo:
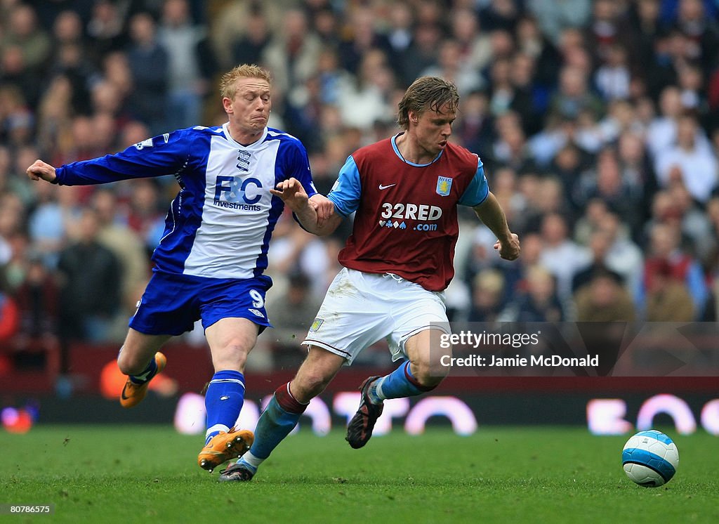
[(205, 393), (207, 431), (205, 443), (220, 431), (229, 431), (244, 404), (244, 377), (239, 371), (226, 369), (212, 376)]

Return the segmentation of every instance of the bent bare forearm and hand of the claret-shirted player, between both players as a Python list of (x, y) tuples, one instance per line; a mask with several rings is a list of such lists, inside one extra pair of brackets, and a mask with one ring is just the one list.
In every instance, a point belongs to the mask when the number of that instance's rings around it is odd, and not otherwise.
[(283, 180), (275, 189), (270, 189), (270, 193), (282, 198), (302, 227), (312, 234), (329, 235), (342, 222), (342, 216), (334, 212), (334, 203), (329, 198), (319, 194), (307, 198), (306, 191), (296, 178)]

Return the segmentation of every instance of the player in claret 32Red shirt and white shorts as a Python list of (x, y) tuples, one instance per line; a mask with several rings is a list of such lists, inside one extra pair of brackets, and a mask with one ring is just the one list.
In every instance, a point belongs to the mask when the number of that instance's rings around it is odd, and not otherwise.
[(448, 142), (458, 103), (452, 83), (418, 78), (399, 104), (404, 131), (347, 158), (328, 195), (335, 213), (318, 231), (329, 234), (355, 213), (352, 235), (339, 253), (344, 268), (303, 341), (305, 362), (275, 391), (252, 447), (220, 480), (252, 479), (340, 367), (380, 339), (387, 339), (394, 360), (406, 360), (387, 376), (362, 384), (359, 410), (347, 428), (353, 448), (372, 436), (383, 400), (421, 395), (449, 372), (440, 363), (439, 338), (449, 333), (442, 291), (454, 276), (457, 206), (471, 206), (493, 231), (500, 257), (519, 255), (518, 237), (487, 188), (482, 161)]

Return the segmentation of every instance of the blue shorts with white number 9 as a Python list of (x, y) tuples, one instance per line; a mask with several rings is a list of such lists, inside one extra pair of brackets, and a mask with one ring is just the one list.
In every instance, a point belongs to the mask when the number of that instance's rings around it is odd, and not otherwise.
[(130, 318), (129, 326), (147, 335), (181, 335), (202, 319), (207, 329), (222, 318), (247, 318), (272, 327), (265, 311), (265, 293), (272, 279), (208, 278), (155, 271)]

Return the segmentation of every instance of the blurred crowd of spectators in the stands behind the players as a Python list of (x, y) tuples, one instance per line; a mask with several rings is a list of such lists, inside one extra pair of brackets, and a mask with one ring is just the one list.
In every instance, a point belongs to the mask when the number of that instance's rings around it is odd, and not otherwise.
[[(32, 183), (27, 166), (221, 124), (217, 80), (238, 63), (270, 69), (270, 126), (302, 140), (322, 193), (347, 155), (398, 131), (416, 77), (457, 84), (452, 139), (482, 158), (523, 250), (501, 261), (464, 209), (452, 320), (716, 321), (718, 13), (718, 0), (0, 0), (0, 346), (121, 342), (178, 190), (171, 176)], [(277, 329), (261, 337), (275, 358), (301, 351), (347, 231), (278, 224)]]

